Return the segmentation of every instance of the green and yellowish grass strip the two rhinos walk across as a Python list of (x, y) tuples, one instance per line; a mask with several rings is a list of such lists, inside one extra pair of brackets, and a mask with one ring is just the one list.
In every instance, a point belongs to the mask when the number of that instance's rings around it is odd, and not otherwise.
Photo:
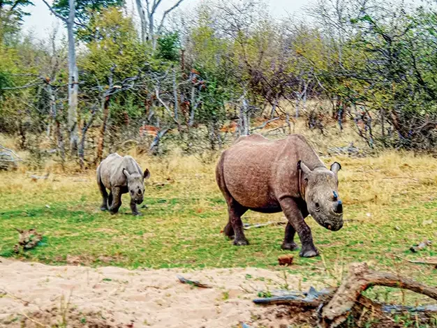
[[(343, 229), (330, 232), (307, 218), (323, 257), (299, 258), (295, 252), (295, 264), (286, 271), (301, 275), (304, 281), (326, 282), (328, 278), (339, 281), (348, 263), (368, 262), (373, 268), (436, 285), (436, 269), (394, 257), (437, 258), (436, 246), (416, 254), (409, 251), (413, 244), (437, 237), (436, 173), (431, 176), (425, 172), (429, 163), (424, 163), (421, 170), (407, 169), (419, 182), (384, 180), (386, 165), (390, 165), (387, 170), (391, 168), (394, 174), (399, 170), (409, 174), (399, 161), (404, 160), (392, 155), (360, 160), (343, 158), (342, 162), (346, 162), (343, 170), (348, 170), (340, 173), (339, 190), (346, 219)], [(371, 177), (366, 177), (366, 173), (357, 175), (368, 163), (380, 165), (381, 169)], [(156, 166), (154, 181), (170, 175), (175, 182), (147, 186), (143, 203), (147, 209), (140, 209), (142, 216), (130, 215), (128, 195), (124, 195), (119, 214), (112, 216), (100, 211), (100, 195), (91, 177), (87, 182), (58, 176), (55, 181), (31, 183), (17, 177), (17, 173), (3, 174), (3, 186), (9, 188), (0, 188), (0, 256), (48, 264), (70, 262), (128, 268), (283, 269), (277, 258), (285, 253), (280, 248), (285, 226), (247, 230), (250, 245), (246, 247), (232, 246), (232, 241), (221, 234), (227, 213), (215, 186), (213, 169), (213, 165), (201, 165), (198, 174), (202, 177), (195, 177), (193, 172), (173, 171), (171, 167), (163, 172)], [(355, 181), (357, 177), (360, 181)], [(387, 190), (392, 191), (390, 197)], [(244, 216), (249, 223), (282, 219), (283, 214), (248, 212)], [(424, 225), (424, 221), (430, 220), (432, 223)], [(33, 250), (17, 255), (13, 246), (18, 236), (13, 228), (37, 228), (44, 239)], [(375, 289), (373, 293), (385, 295), (386, 291)]]

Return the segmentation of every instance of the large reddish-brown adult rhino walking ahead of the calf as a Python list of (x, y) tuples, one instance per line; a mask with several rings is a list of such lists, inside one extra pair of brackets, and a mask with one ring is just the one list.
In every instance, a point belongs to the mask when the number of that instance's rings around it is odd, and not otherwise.
[(343, 226), (339, 200), (339, 163), (328, 170), (303, 135), (268, 140), (262, 135), (239, 137), (223, 151), (216, 167), (216, 181), (228, 204), (229, 222), (224, 233), (234, 244), (247, 245), (241, 216), (248, 210), (283, 211), (288, 223), (283, 249), (297, 250), (295, 232), (302, 242), (299, 255), (318, 255), (304, 218), (311, 216), (329, 230)]

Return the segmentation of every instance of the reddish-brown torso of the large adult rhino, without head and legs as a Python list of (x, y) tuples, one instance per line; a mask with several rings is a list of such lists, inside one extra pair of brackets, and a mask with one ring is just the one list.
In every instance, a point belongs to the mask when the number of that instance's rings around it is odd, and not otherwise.
[(299, 160), (323, 163), (302, 135), (267, 140), (260, 135), (240, 137), (223, 154), (223, 175), (232, 197), (251, 209), (277, 209), (281, 197), (298, 197)]

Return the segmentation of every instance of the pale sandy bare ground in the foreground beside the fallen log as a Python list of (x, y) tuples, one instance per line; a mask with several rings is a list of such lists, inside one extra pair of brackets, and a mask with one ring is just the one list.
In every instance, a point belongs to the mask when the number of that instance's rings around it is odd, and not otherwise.
[[(128, 270), (52, 267), (0, 259), (1, 327), (281, 327), (290, 323), (255, 306), (260, 290), (279, 290), (266, 269)], [(182, 284), (177, 274), (212, 288)], [(287, 276), (291, 289), (299, 277)], [(286, 326), (282, 326), (286, 327)]]

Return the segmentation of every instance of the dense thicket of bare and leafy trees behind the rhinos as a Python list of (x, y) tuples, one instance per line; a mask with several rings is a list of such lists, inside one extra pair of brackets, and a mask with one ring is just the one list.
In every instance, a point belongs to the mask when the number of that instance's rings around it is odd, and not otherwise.
[[(372, 148), (436, 146), (434, 2), (318, 0), (306, 20), (254, 0), (181, 3), (136, 1), (137, 28), (119, 0), (46, 2), (68, 30), (59, 43), (59, 31), (24, 35), (29, 1), (0, 1), (0, 132), (40, 161), (82, 167), (128, 143), (216, 149), (230, 119), (246, 135), (254, 118), (289, 124), (302, 111), (309, 128), (349, 120)], [(331, 105), (306, 110), (311, 98)]]

